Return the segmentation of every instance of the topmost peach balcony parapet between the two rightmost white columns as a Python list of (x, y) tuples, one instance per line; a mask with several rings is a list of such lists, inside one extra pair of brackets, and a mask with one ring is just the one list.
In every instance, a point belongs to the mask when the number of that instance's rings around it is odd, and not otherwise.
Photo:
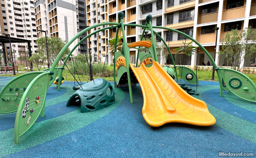
[(222, 20), (236, 19), (245, 17), (245, 6), (223, 10)]

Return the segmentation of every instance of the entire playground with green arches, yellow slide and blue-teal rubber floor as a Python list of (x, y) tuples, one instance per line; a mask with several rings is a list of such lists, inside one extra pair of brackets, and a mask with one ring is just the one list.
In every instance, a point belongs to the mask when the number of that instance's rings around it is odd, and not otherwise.
[[(207, 50), (189, 35), (152, 26), (150, 14), (145, 25), (123, 24), (123, 17), (123, 12), (118, 13), (118, 23), (105, 22), (110, 26), (81, 39), (62, 58), (76, 38), (104, 24), (79, 32), (62, 48), (50, 68), (17, 77), (0, 77), (0, 139), (3, 140), (0, 156), (194, 158), (227, 153), (225, 156), (246, 156), (241, 153), (254, 156), (253, 81), (236, 70), (217, 67)], [(144, 28), (141, 40), (126, 43), (125, 26)], [(85, 39), (113, 28), (118, 28), (114, 81), (94, 79), (93, 63), (89, 69), (91, 81), (88, 78), (87, 82), (81, 82), (66, 62)], [(218, 82), (199, 81), (197, 67), (194, 72), (183, 64), (175, 65), (169, 46), (153, 28), (177, 32), (196, 43), (198, 48), (194, 51), (201, 49), (207, 54)], [(123, 35), (120, 51), (117, 51), (118, 30)], [(152, 42), (142, 40), (145, 30), (151, 32)], [(159, 64), (154, 35), (166, 46), (173, 67)], [(130, 62), (130, 49), (138, 49), (134, 65)], [(59, 61), (63, 65), (56, 67)], [(87, 57), (85, 62), (88, 64)], [(65, 66), (74, 82), (65, 81)], [(75, 66), (72, 69), (75, 74)]]

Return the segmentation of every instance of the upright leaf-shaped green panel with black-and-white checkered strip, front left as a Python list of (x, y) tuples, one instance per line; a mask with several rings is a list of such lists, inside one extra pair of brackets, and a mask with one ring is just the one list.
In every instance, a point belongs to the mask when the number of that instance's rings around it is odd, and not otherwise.
[(50, 80), (49, 73), (44, 72), (34, 78), (21, 98), (15, 119), (15, 143), (18, 143), (19, 137), (34, 124), (44, 108), (45, 95)]

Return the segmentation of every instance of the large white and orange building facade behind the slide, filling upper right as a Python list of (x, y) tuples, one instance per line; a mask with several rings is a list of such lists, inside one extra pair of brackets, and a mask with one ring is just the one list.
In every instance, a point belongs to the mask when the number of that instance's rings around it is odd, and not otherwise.
[[(91, 26), (99, 22), (118, 22), (119, 11), (125, 13), (124, 23), (145, 24), (147, 14), (152, 15), (153, 26), (165, 26), (180, 30), (190, 35), (201, 43), (214, 58), (216, 30), (217, 49), (221, 49), (221, 39), (232, 29), (244, 30), (247, 27), (256, 27), (256, 0), (86, 0), (87, 25)], [(103, 28), (96, 28), (98, 30)], [(175, 59), (175, 64), (185, 64), (191, 67), (196, 65), (196, 54), (191, 57), (176, 54), (173, 49), (183, 46), (183, 42), (191, 40), (184, 36), (167, 30), (154, 29), (164, 38)], [(105, 61), (108, 41), (115, 38), (116, 29), (105, 30), (97, 36), (92, 37), (92, 54), (96, 52), (101, 62)], [(141, 38), (142, 29), (138, 27), (126, 27), (126, 41), (132, 43)], [(119, 36), (122, 32), (119, 31)], [(147, 35), (150, 37), (150, 35)], [(156, 37), (155, 37), (156, 38)], [(157, 44), (161, 46), (160, 39)], [(94, 45), (95, 44), (95, 45)], [(196, 46), (195, 43), (191, 45)], [(98, 50), (98, 51), (97, 51)], [(110, 51), (109, 51), (110, 52)], [(135, 63), (137, 50), (131, 49), (130, 59)], [(173, 64), (169, 54), (162, 54), (161, 64)], [(107, 56), (108, 63), (113, 62), (113, 54)], [(198, 63), (209, 61), (207, 55), (199, 52)], [(251, 59), (255, 61), (255, 57)], [(224, 55), (216, 54), (215, 62), (219, 66), (227, 66)], [(251, 65), (250, 61), (244, 61), (246, 67)], [(212, 64), (212, 63), (211, 63)], [(231, 64), (230, 64), (231, 65)]]

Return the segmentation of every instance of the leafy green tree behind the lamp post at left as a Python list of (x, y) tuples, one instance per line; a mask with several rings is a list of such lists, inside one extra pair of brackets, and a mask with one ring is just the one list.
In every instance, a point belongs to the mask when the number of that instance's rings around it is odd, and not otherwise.
[[(43, 56), (47, 57), (46, 46), (45, 46), (45, 38), (39, 38), (36, 40), (38, 45), (37, 52), (39, 54), (43, 54)], [(66, 45), (67, 41), (63, 41), (59, 37), (47, 37), (47, 46), (48, 46), (48, 54), (49, 54), (49, 63), (52, 65), (53, 61), (56, 59), (57, 55), (60, 53), (62, 48)], [(67, 48), (62, 56), (65, 56), (70, 52), (70, 49)]]

